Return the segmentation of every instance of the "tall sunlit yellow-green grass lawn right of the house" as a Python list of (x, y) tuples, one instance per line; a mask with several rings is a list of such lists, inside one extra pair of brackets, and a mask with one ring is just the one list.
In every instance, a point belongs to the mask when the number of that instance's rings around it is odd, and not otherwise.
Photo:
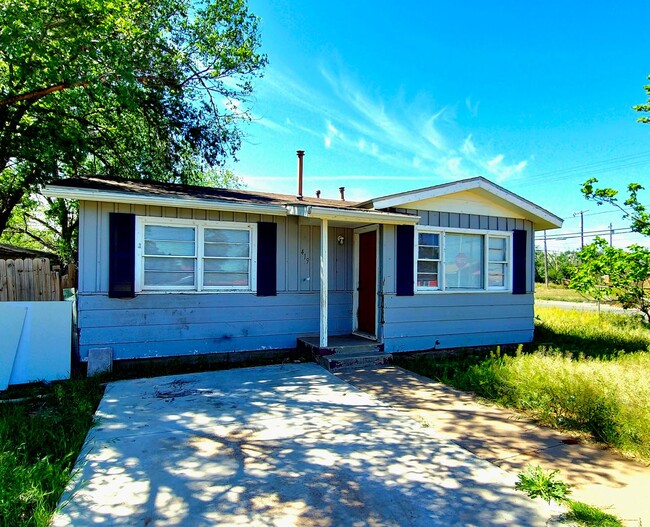
[(412, 371), (650, 460), (650, 326), (537, 307), (536, 344), (511, 354), (401, 356)]

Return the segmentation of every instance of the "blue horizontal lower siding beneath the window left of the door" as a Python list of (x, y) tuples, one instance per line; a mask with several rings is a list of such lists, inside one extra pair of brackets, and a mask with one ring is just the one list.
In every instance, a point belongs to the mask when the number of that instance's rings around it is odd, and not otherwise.
[[(332, 334), (352, 331), (352, 293), (331, 292)], [(133, 299), (80, 295), (82, 359), (110, 346), (115, 359), (288, 349), (297, 335), (317, 335), (319, 295), (141, 294)]]

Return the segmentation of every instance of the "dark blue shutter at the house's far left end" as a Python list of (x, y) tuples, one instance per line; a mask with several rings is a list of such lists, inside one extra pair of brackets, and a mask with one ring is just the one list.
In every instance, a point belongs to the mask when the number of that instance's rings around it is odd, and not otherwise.
[(108, 296), (135, 296), (135, 215), (109, 214)]

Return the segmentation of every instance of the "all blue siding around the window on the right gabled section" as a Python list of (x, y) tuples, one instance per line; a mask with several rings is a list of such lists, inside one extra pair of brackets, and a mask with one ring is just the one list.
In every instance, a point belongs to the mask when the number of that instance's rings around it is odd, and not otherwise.
[(420, 225), (480, 231), (526, 231), (526, 294), (440, 292), (395, 294), (395, 227), (383, 226), (382, 338), (386, 352), (530, 342), (534, 330), (534, 229), (528, 220), (395, 209)]

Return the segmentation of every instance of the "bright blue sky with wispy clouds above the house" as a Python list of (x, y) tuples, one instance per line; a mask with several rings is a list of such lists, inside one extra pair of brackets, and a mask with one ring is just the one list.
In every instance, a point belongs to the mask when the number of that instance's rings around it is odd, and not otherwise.
[[(622, 228), (582, 198), (645, 184), (650, 3), (249, 0), (269, 65), (231, 168), (248, 188), (364, 199), (484, 176), (558, 214)], [(549, 233), (550, 234), (550, 233)], [(615, 244), (633, 241), (624, 235)], [(579, 239), (553, 242), (554, 249)]]

